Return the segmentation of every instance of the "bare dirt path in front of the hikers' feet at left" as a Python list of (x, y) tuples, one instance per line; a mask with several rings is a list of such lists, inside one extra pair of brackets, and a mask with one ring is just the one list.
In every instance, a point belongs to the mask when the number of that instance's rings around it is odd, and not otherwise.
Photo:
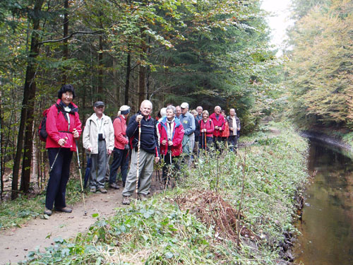
[[(151, 191), (153, 193), (159, 190), (160, 183), (154, 173)], [(57, 237), (68, 239), (78, 233), (87, 232), (90, 225), (97, 220), (96, 217), (92, 217), (93, 214), (98, 213), (101, 217), (108, 217), (114, 214), (115, 208), (124, 207), (121, 204), (121, 192), (121, 188), (108, 189), (107, 194), (97, 192), (85, 196), (86, 216), (83, 203), (80, 202), (71, 206), (72, 213), (53, 211), (49, 219), (35, 218), (21, 225), (20, 228), (8, 228), (1, 231), (0, 264), (17, 264), (18, 261), (25, 259), (28, 252), (36, 248), (44, 251), (45, 247), (54, 245), (54, 239)]]

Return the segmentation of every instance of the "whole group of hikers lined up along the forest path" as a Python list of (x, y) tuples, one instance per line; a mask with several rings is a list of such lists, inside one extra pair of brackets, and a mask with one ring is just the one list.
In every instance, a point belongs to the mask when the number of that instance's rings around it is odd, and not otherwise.
[[(130, 107), (121, 106), (117, 117), (112, 120), (104, 114), (104, 102), (97, 101), (93, 105), (94, 113), (82, 130), (78, 107), (73, 103), (75, 96), (73, 86), (62, 86), (56, 104), (47, 112), (46, 148), (50, 165), (44, 208), (47, 216), (52, 215), (53, 208), (55, 211), (72, 212), (72, 208), (66, 206), (66, 184), (71, 158), (73, 152), (78, 152), (77, 141), (81, 134), (83, 148), (91, 160), (90, 192), (107, 193), (107, 165), (110, 155), (113, 155), (108, 170), (109, 187), (120, 188), (116, 181), (120, 167), (124, 187), (122, 204), (126, 205), (130, 204), (135, 189), (138, 199), (147, 199), (153, 164), (158, 163), (161, 157), (164, 160), (162, 178), (166, 184), (170, 165), (182, 154), (186, 163), (191, 163), (200, 153), (213, 150), (211, 146), (219, 151), (229, 148), (229, 151), (237, 152), (240, 121), (234, 109), (230, 109), (226, 117), (220, 106), (216, 106), (210, 115), (201, 106), (189, 112), (189, 104), (183, 102), (177, 107), (168, 105), (162, 108), (153, 119), (152, 102), (144, 100), (140, 110), (126, 124)], [(178, 169), (178, 163), (175, 165)]]

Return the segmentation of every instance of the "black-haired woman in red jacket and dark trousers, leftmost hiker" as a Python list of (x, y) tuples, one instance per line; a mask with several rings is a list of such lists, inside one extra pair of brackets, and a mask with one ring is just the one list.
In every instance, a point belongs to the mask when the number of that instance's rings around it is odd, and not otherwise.
[(44, 214), (52, 215), (55, 211), (71, 213), (66, 207), (66, 184), (70, 173), (70, 163), (73, 152), (76, 151), (76, 139), (81, 134), (81, 122), (78, 107), (73, 104), (75, 98), (73, 86), (64, 85), (58, 92), (56, 104), (47, 113), (47, 148), (49, 156), (49, 182), (45, 199)]

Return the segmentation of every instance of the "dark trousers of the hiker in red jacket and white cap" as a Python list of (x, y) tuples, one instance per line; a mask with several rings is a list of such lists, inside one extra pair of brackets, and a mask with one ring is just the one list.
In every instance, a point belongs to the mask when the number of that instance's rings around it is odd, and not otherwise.
[(119, 167), (121, 171), (121, 179), (124, 183), (126, 182), (126, 176), (128, 175), (128, 160), (130, 160), (128, 150), (114, 148), (113, 162), (112, 165), (110, 165), (110, 184), (116, 182), (116, 172), (118, 171)]

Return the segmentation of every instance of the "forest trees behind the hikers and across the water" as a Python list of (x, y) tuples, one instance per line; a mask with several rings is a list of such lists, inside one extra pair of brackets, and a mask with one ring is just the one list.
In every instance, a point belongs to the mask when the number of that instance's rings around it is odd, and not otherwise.
[[(82, 122), (92, 103), (156, 114), (189, 102), (235, 107), (242, 133), (285, 114), (302, 126), (352, 128), (352, 1), (294, 0), (284, 57), (269, 47), (261, 1), (3, 0), (0, 3), (1, 198), (47, 179), (37, 137), (62, 84), (76, 88)], [(283, 62), (285, 64), (283, 64)], [(83, 152), (82, 152), (83, 153)]]

